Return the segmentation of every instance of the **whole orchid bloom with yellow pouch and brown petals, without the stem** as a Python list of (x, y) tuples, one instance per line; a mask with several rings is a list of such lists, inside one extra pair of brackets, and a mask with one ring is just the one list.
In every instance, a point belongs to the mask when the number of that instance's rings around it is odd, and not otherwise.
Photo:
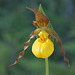
[(36, 21), (33, 21), (33, 25), (39, 28), (34, 30), (30, 34), (29, 40), (24, 43), (24, 50), (19, 53), (19, 57), (10, 66), (15, 65), (19, 61), (19, 59), (23, 57), (25, 50), (28, 48), (30, 44), (30, 40), (34, 38), (35, 36), (39, 35), (40, 38), (36, 39), (36, 41), (33, 43), (33, 46), (32, 46), (33, 54), (38, 58), (47, 58), (51, 56), (51, 54), (54, 51), (54, 45), (51, 41), (51, 37), (55, 38), (56, 42), (61, 47), (61, 54), (62, 56), (64, 56), (64, 61), (68, 64), (68, 68), (70, 69), (69, 60), (65, 57), (65, 49), (62, 46), (61, 39), (59, 38), (58, 34), (54, 30), (47, 27), (50, 23), (48, 17), (42, 14), (37, 9), (32, 9), (32, 8), (28, 8), (28, 9), (30, 9), (31, 11), (35, 13)]

